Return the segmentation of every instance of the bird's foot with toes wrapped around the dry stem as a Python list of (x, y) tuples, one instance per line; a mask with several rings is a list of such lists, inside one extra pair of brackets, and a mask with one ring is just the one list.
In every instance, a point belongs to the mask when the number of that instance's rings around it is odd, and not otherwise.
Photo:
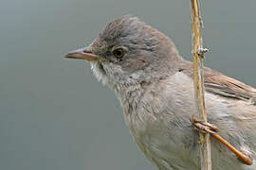
[(192, 125), (194, 128), (202, 133), (214, 134), (218, 131), (218, 128), (210, 123), (205, 123), (203, 120), (200, 120), (197, 116), (192, 115)]

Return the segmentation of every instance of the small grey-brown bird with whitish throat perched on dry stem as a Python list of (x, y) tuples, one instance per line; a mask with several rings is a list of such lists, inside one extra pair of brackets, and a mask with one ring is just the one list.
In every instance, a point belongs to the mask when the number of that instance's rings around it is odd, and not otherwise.
[[(158, 170), (199, 170), (199, 133), (192, 125), (192, 61), (174, 42), (131, 15), (108, 23), (89, 46), (64, 55), (86, 59), (93, 74), (119, 98), (124, 120), (145, 157)], [(203, 68), (210, 124), (252, 161), (256, 152), (256, 89)], [(255, 170), (211, 138), (213, 170)]]

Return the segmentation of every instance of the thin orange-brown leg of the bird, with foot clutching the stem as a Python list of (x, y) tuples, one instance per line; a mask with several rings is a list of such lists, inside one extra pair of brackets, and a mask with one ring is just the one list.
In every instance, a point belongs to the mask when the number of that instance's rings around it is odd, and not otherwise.
[(252, 156), (249, 152), (246, 150), (239, 151), (234, 146), (228, 143), (225, 139), (223, 139), (220, 135), (218, 135), (216, 132), (218, 131), (218, 128), (209, 124), (205, 123), (204, 121), (199, 120), (195, 115), (192, 116), (192, 124), (195, 127), (196, 130), (202, 132), (202, 133), (210, 133), (215, 139), (217, 139), (220, 143), (226, 145), (230, 151), (232, 151), (238, 158), (239, 161), (242, 163), (245, 163), (247, 165), (251, 165), (253, 162)]

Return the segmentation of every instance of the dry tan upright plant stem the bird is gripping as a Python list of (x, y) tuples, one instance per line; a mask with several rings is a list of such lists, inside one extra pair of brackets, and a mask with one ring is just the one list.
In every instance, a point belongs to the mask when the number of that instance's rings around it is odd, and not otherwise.
[[(200, 16), (199, 0), (191, 0), (192, 4), (192, 56), (193, 56), (193, 84), (194, 101), (199, 118), (207, 121), (204, 98), (203, 58), (207, 52), (202, 42), (202, 21)], [(200, 135), (201, 170), (211, 170), (210, 133)]]

